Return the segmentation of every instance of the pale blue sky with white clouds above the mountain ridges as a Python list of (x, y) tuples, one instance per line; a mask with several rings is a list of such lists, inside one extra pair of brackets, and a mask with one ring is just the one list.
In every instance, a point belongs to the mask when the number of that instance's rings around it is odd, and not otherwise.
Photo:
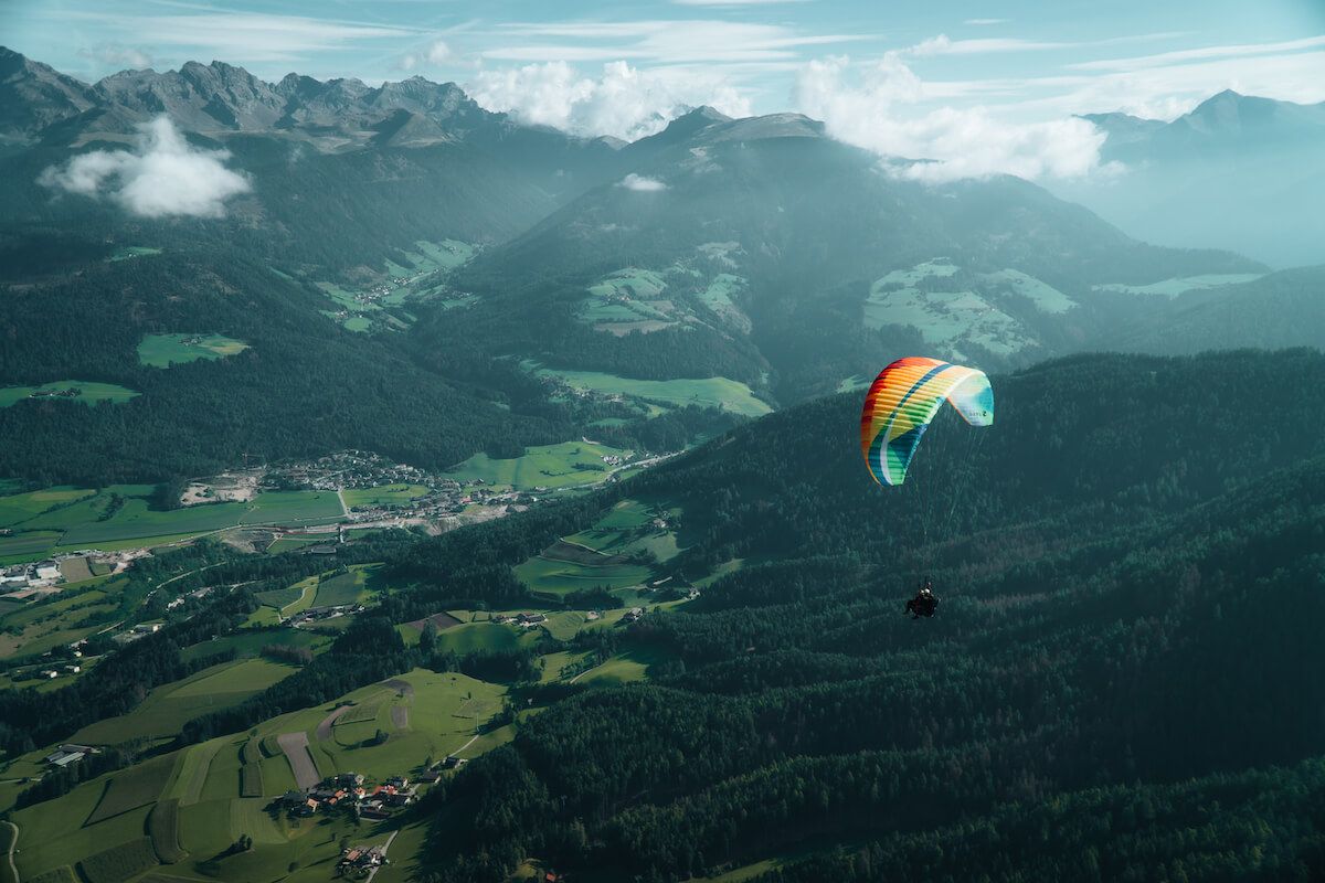
[(942, 177), (1098, 172), (1077, 114), (1325, 101), (1325, 0), (0, 0), (0, 42), (86, 81), (189, 60), (423, 75), (625, 139), (698, 105), (796, 111)]

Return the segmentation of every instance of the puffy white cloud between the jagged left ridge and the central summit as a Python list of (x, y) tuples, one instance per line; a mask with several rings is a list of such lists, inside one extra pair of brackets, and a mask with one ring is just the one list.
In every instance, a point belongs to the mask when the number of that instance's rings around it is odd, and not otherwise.
[(729, 116), (750, 115), (749, 101), (712, 73), (639, 70), (624, 61), (603, 65), (596, 78), (582, 75), (564, 61), (482, 70), (465, 91), (480, 106), (525, 123), (627, 140), (661, 131), (668, 120), (698, 105)]

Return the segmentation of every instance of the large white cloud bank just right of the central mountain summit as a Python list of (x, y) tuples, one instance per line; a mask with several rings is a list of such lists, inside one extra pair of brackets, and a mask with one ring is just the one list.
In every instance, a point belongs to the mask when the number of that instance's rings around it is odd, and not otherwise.
[(926, 85), (897, 56), (861, 68), (840, 57), (811, 62), (796, 95), (800, 110), (823, 119), (839, 140), (890, 160), (930, 160), (894, 163), (902, 177), (1079, 177), (1101, 168), (1105, 135), (1083, 119), (1014, 123), (984, 107), (898, 113), (925, 98)]

